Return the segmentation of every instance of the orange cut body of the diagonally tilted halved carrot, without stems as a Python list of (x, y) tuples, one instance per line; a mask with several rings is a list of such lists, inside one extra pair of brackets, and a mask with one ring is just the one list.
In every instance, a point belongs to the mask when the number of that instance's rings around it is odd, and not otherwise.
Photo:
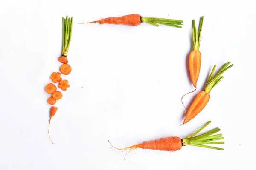
[(200, 113), (204, 107), (207, 105), (210, 99), (210, 94), (206, 93), (205, 91), (201, 91), (193, 101), (192, 105), (190, 106), (186, 118), (183, 121), (183, 124), (189, 122), (193, 119), (198, 113)]

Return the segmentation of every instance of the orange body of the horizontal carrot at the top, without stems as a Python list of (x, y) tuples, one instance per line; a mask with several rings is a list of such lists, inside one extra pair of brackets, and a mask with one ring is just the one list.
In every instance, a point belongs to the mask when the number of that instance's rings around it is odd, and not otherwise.
[(93, 21), (91, 23), (100, 24), (122, 24), (128, 26), (138, 26), (141, 24), (141, 16), (139, 14), (130, 14), (122, 17), (108, 17), (102, 20)]

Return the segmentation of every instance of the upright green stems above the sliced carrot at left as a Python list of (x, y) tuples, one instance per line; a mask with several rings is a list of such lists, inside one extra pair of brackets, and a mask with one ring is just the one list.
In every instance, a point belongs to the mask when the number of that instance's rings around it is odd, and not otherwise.
[(62, 56), (67, 57), (68, 48), (70, 46), (70, 40), (72, 35), (73, 17), (64, 19), (62, 17), (63, 25), (63, 42), (62, 42)]

